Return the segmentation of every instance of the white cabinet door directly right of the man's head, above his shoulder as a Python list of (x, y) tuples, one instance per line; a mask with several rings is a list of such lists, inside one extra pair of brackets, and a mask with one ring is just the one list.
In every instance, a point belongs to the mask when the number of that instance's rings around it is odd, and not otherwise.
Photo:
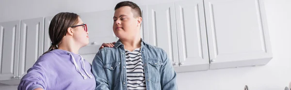
[(175, 17), (174, 2), (148, 6), (149, 44), (165, 50), (172, 63), (179, 62)]

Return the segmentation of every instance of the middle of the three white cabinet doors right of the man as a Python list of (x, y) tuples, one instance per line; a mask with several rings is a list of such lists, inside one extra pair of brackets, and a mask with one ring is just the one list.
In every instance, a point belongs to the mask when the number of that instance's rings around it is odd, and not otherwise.
[(208, 70), (209, 56), (203, 0), (179, 1), (175, 2), (175, 7), (180, 67), (193, 67), (177, 71)]

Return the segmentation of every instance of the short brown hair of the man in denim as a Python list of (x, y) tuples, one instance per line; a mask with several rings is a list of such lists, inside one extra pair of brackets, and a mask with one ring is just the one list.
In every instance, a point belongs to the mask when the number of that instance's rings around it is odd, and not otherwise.
[(139, 6), (131, 1), (122, 1), (116, 4), (114, 10), (123, 7), (123, 6), (129, 6), (131, 7), (131, 12), (133, 13), (133, 16), (136, 17), (142, 17), (142, 12)]

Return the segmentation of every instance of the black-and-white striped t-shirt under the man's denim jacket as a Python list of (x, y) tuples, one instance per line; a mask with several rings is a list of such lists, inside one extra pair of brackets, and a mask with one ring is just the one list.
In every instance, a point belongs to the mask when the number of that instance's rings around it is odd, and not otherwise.
[(128, 90), (146, 90), (146, 79), (140, 48), (126, 53), (126, 75)]

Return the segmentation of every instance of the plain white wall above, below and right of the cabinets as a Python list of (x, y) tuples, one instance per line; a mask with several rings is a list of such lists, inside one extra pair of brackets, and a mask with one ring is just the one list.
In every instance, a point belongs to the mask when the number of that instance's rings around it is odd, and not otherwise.
[[(16, 2), (17, 1), (17, 2)], [(0, 22), (113, 9), (121, 0), (0, 0)], [(100, 2), (98, 2), (100, 1)], [(131, 0), (138, 5), (177, 0)], [(100, 4), (100, 5), (97, 5)], [(284, 90), (291, 82), (291, 0), (266, 0), (274, 58), (264, 66), (178, 73), (179, 90)], [(16, 90), (17, 86), (0, 86)]]

